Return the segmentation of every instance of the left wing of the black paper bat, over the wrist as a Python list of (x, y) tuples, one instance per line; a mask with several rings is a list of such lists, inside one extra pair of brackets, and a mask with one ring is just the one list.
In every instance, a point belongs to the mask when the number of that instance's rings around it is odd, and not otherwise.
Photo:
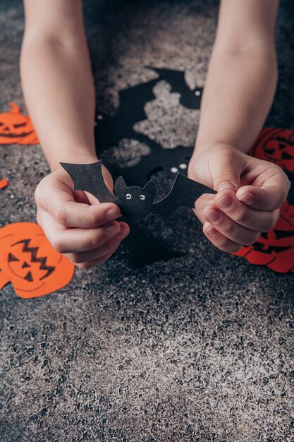
[(118, 201), (118, 198), (104, 182), (102, 160), (88, 165), (74, 165), (68, 162), (60, 164), (73, 179), (75, 191), (90, 192), (99, 199), (100, 203), (116, 203)]

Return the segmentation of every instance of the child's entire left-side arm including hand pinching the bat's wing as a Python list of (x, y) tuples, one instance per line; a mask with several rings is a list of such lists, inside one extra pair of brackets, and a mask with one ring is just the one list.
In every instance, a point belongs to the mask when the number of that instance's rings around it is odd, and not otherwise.
[[(53, 171), (36, 189), (37, 221), (58, 251), (88, 268), (114, 253), (128, 226), (114, 221), (120, 215), (116, 205), (99, 204), (89, 194), (74, 192), (71, 178), (59, 166), (60, 161), (97, 161), (94, 85), (81, 0), (25, 0), (24, 4), (23, 92)], [(111, 176), (104, 172), (111, 186)]]

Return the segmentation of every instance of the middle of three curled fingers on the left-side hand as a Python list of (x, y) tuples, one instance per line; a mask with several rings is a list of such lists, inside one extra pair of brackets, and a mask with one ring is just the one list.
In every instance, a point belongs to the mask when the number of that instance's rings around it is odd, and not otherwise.
[(46, 211), (39, 213), (38, 222), (47, 239), (59, 253), (78, 253), (97, 249), (119, 232), (121, 224), (125, 225), (125, 223), (112, 221), (108, 225), (95, 229), (80, 229), (79, 227), (66, 229)]

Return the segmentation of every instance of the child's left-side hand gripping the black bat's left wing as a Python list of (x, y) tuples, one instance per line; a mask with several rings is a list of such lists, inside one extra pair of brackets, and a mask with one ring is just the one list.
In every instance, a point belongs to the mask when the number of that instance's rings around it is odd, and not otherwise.
[[(111, 175), (104, 179), (112, 189)], [(40, 181), (35, 191), (37, 222), (56, 251), (64, 253), (80, 268), (108, 260), (129, 233), (116, 204), (99, 203), (90, 193), (73, 191), (73, 181), (59, 167)]]

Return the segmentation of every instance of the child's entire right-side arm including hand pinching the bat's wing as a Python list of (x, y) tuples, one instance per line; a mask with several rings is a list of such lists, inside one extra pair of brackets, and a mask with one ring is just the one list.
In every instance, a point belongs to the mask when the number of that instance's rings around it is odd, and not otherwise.
[(278, 0), (222, 0), (189, 176), (219, 190), (197, 203), (204, 234), (237, 251), (274, 224), (289, 181), (276, 165), (246, 155), (276, 88)]

